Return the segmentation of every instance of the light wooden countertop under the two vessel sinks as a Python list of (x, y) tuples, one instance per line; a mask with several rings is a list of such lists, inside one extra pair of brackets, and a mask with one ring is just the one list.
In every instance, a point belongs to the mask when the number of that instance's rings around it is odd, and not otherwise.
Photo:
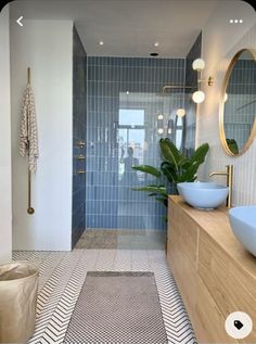
[(249, 254), (234, 237), (229, 224), (227, 207), (199, 211), (187, 204), (179, 195), (169, 195), (168, 199), (169, 202), (181, 207), (256, 282), (256, 257)]

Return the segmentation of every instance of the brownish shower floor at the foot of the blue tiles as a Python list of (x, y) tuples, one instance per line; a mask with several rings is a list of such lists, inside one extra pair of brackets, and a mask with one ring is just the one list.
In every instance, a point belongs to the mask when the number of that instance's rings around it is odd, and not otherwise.
[(165, 250), (166, 232), (87, 229), (76, 249)]

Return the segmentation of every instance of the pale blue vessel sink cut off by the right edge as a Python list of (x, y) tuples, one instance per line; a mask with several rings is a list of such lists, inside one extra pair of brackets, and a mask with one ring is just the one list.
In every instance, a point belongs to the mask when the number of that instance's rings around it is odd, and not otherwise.
[(229, 221), (235, 238), (256, 256), (256, 205), (233, 207)]

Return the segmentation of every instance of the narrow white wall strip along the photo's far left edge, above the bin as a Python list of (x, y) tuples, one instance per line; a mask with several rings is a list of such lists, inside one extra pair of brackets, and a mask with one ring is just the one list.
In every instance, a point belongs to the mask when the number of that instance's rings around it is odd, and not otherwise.
[(0, 264), (11, 259), (11, 106), (9, 7), (0, 13)]

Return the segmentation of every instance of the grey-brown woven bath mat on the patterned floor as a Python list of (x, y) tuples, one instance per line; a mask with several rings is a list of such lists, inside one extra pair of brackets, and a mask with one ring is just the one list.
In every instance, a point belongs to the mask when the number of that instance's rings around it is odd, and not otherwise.
[(64, 343), (167, 343), (154, 273), (88, 272)]

